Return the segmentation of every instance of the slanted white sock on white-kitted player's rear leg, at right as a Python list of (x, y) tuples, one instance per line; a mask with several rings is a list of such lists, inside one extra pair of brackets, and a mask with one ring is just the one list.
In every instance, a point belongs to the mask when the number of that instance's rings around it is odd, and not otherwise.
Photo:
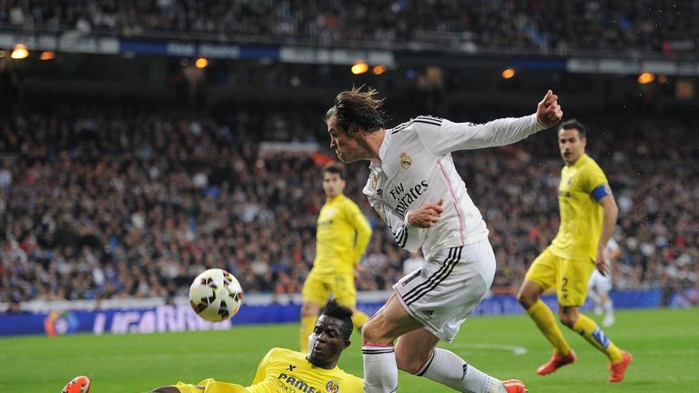
[(432, 358), (417, 375), (430, 378), (461, 392), (500, 393), (504, 391), (500, 379), (484, 374), (453, 352), (442, 348), (434, 348)]

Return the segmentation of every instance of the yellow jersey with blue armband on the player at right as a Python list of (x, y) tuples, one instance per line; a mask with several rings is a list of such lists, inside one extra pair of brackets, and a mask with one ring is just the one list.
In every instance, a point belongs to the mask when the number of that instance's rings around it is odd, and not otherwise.
[[(561, 224), (551, 250), (556, 257), (593, 260), (602, 236), (603, 207), (593, 197), (600, 186), (609, 189), (600, 166), (583, 154), (572, 166), (563, 166), (558, 186)], [(611, 195), (611, 190), (609, 193)]]

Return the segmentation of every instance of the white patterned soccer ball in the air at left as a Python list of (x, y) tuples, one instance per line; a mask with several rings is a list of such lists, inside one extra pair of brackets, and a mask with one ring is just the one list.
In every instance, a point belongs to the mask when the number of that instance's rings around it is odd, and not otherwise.
[(199, 317), (219, 322), (233, 317), (243, 302), (243, 289), (236, 277), (219, 268), (208, 269), (189, 287), (189, 304)]

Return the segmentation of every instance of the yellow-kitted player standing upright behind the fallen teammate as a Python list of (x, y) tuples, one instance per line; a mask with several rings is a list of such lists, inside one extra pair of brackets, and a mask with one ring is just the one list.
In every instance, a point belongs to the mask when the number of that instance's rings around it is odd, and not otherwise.
[(353, 312), (354, 328), (361, 328), (369, 317), (357, 310), (355, 269), (369, 245), (371, 227), (360, 207), (345, 196), (347, 170), (341, 163), (323, 168), (325, 205), (320, 208), (316, 229), (316, 257), (303, 284), (299, 348), (308, 350), (309, 334), (320, 305), (329, 297), (338, 299)]

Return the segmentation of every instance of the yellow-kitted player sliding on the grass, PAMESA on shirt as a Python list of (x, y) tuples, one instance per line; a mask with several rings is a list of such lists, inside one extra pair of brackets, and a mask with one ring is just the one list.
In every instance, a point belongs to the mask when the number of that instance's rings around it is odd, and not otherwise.
[[(272, 348), (259, 362), (250, 386), (204, 379), (197, 385), (177, 382), (156, 388), (152, 393), (363, 393), (361, 378), (338, 367), (339, 356), (349, 347), (352, 334), (352, 310), (330, 300), (320, 311), (313, 333), (309, 336), (308, 354), (285, 348)], [(77, 377), (63, 393), (87, 393), (90, 381)]]

